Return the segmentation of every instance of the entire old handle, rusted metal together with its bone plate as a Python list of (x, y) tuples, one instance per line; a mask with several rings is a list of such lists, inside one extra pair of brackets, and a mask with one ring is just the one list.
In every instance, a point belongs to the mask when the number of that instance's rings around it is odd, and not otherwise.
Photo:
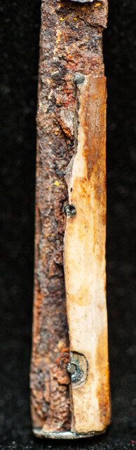
[[(109, 423), (104, 293), (106, 88), (102, 58), (102, 31), (106, 25), (105, 0), (86, 4), (73, 0), (44, 0), (41, 3), (34, 320), (30, 373), (32, 423), (34, 432), (40, 437), (72, 439), (94, 435), (95, 432), (102, 432)], [(74, 172), (79, 146), (81, 165), (84, 167), (82, 176), (78, 169), (80, 180)], [(72, 236), (74, 230), (78, 230), (75, 242), (74, 234)], [(70, 274), (73, 271), (74, 277), (76, 266), (75, 274), (78, 276), (78, 261), (74, 257), (71, 260), (71, 251), (81, 261), (74, 244), (77, 248), (78, 238), (80, 250), (84, 236), (86, 257), (90, 257), (89, 248), (93, 251), (90, 266), (95, 271), (94, 295), (91, 297), (90, 293), (92, 272), (90, 288), (87, 282), (86, 293), (83, 291), (83, 295), (75, 295), (73, 310), (74, 290), (72, 292), (73, 278)], [(81, 286), (82, 266), (79, 262)], [(74, 277), (74, 285), (75, 282), (77, 285), (77, 278)], [(86, 277), (83, 284), (86, 287)], [(90, 313), (88, 290), (93, 298), (93, 315)], [(95, 300), (100, 317), (100, 321), (96, 320), (96, 326)], [(83, 312), (84, 328), (81, 313), (78, 312), (79, 317), (76, 314), (78, 308), (81, 311), (82, 304), (88, 316), (86, 321)], [(83, 338), (86, 326), (90, 330), (87, 347), (88, 335), (85, 333)], [(75, 329), (79, 329), (79, 333), (81, 331), (79, 346), (78, 333), (73, 333)], [(73, 373), (67, 370), (69, 364)], [(71, 378), (77, 381), (77, 385), (71, 382)], [(87, 414), (86, 409), (89, 411)]]

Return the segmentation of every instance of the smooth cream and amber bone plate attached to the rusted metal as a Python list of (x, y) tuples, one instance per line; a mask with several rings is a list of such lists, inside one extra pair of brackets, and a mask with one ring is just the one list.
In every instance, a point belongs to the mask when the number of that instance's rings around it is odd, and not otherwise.
[[(102, 432), (110, 421), (107, 337), (106, 79), (87, 75), (77, 86), (78, 143), (68, 176), (64, 276), (69, 342), (88, 360), (88, 377), (72, 387), (72, 431)], [(69, 169), (68, 169), (69, 173)]]

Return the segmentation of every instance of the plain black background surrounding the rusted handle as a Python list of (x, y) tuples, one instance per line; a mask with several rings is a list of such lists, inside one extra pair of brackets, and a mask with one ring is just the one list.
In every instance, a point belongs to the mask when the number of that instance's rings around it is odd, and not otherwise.
[(40, 441), (29, 413), (40, 0), (1, 1), (0, 449), (136, 446), (135, 0), (110, 0), (107, 75), (107, 305), (112, 424), (103, 437)]

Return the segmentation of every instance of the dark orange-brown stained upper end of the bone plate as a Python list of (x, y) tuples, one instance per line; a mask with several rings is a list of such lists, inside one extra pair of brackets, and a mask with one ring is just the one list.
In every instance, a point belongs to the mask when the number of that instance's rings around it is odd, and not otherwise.
[[(96, 94), (97, 92), (97, 94)], [(84, 157), (86, 158), (88, 179), (95, 173), (97, 189), (100, 187), (100, 179), (104, 175), (105, 182), (105, 129), (106, 129), (106, 80), (104, 77), (90, 78), (88, 88), (83, 90), (81, 117), (83, 117), (83, 129), (85, 133)], [(90, 106), (88, 110), (88, 104)], [(90, 119), (90, 120), (89, 120)], [(102, 166), (102, 162), (104, 167)], [(98, 191), (100, 195), (100, 191)], [(99, 200), (99, 198), (98, 198)]]

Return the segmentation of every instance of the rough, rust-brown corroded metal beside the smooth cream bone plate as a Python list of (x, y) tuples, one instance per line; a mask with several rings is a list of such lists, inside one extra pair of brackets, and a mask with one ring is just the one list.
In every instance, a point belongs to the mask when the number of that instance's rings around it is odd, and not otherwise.
[[(41, 3), (30, 385), (34, 432), (46, 437), (53, 433), (57, 437), (57, 430), (77, 437), (70, 431), (72, 399), (67, 373), (69, 336), (62, 260), (64, 205), (68, 205), (65, 174), (77, 139), (76, 85), (86, 75), (104, 75), (102, 31), (106, 25), (107, 0), (83, 5), (67, 0)], [(66, 206), (65, 213), (69, 214)]]

